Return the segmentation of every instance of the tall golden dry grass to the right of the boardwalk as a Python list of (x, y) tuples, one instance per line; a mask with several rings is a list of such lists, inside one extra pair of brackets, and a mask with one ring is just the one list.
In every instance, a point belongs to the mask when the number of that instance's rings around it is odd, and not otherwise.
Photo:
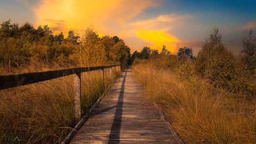
[(193, 77), (179, 81), (170, 69), (139, 63), (132, 71), (185, 143), (256, 143), (256, 102)]

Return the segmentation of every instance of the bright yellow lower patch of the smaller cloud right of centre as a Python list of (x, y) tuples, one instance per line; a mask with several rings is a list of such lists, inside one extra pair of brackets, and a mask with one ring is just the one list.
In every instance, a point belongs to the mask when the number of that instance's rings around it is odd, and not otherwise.
[(180, 42), (173, 34), (166, 33), (163, 30), (141, 30), (135, 32), (135, 34), (149, 42), (151, 49), (158, 49), (159, 51), (161, 51), (164, 45), (168, 51), (175, 53), (178, 48), (178, 42)]

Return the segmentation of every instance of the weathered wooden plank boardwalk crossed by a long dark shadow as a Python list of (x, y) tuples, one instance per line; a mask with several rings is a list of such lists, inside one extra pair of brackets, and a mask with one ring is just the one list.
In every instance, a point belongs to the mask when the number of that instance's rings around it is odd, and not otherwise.
[(179, 143), (145, 95), (126, 69), (71, 143)]

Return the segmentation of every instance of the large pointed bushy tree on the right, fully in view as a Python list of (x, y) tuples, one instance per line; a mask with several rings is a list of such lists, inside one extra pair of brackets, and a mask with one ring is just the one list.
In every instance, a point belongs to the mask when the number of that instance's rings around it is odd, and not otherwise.
[(196, 57), (195, 69), (214, 86), (228, 86), (235, 77), (235, 58), (221, 41), (218, 28), (209, 36)]

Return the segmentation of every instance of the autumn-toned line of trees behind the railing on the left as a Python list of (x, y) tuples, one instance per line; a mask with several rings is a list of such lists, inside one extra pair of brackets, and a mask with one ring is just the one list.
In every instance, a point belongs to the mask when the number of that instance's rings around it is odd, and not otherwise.
[(34, 28), (28, 22), (19, 27), (11, 20), (0, 27), (1, 68), (11, 69), (24, 64), (51, 63), (72, 64), (74, 66), (99, 66), (102, 64), (127, 64), (130, 48), (117, 36), (99, 37), (92, 27), (85, 30), (82, 37), (69, 31), (53, 35), (50, 27)]

